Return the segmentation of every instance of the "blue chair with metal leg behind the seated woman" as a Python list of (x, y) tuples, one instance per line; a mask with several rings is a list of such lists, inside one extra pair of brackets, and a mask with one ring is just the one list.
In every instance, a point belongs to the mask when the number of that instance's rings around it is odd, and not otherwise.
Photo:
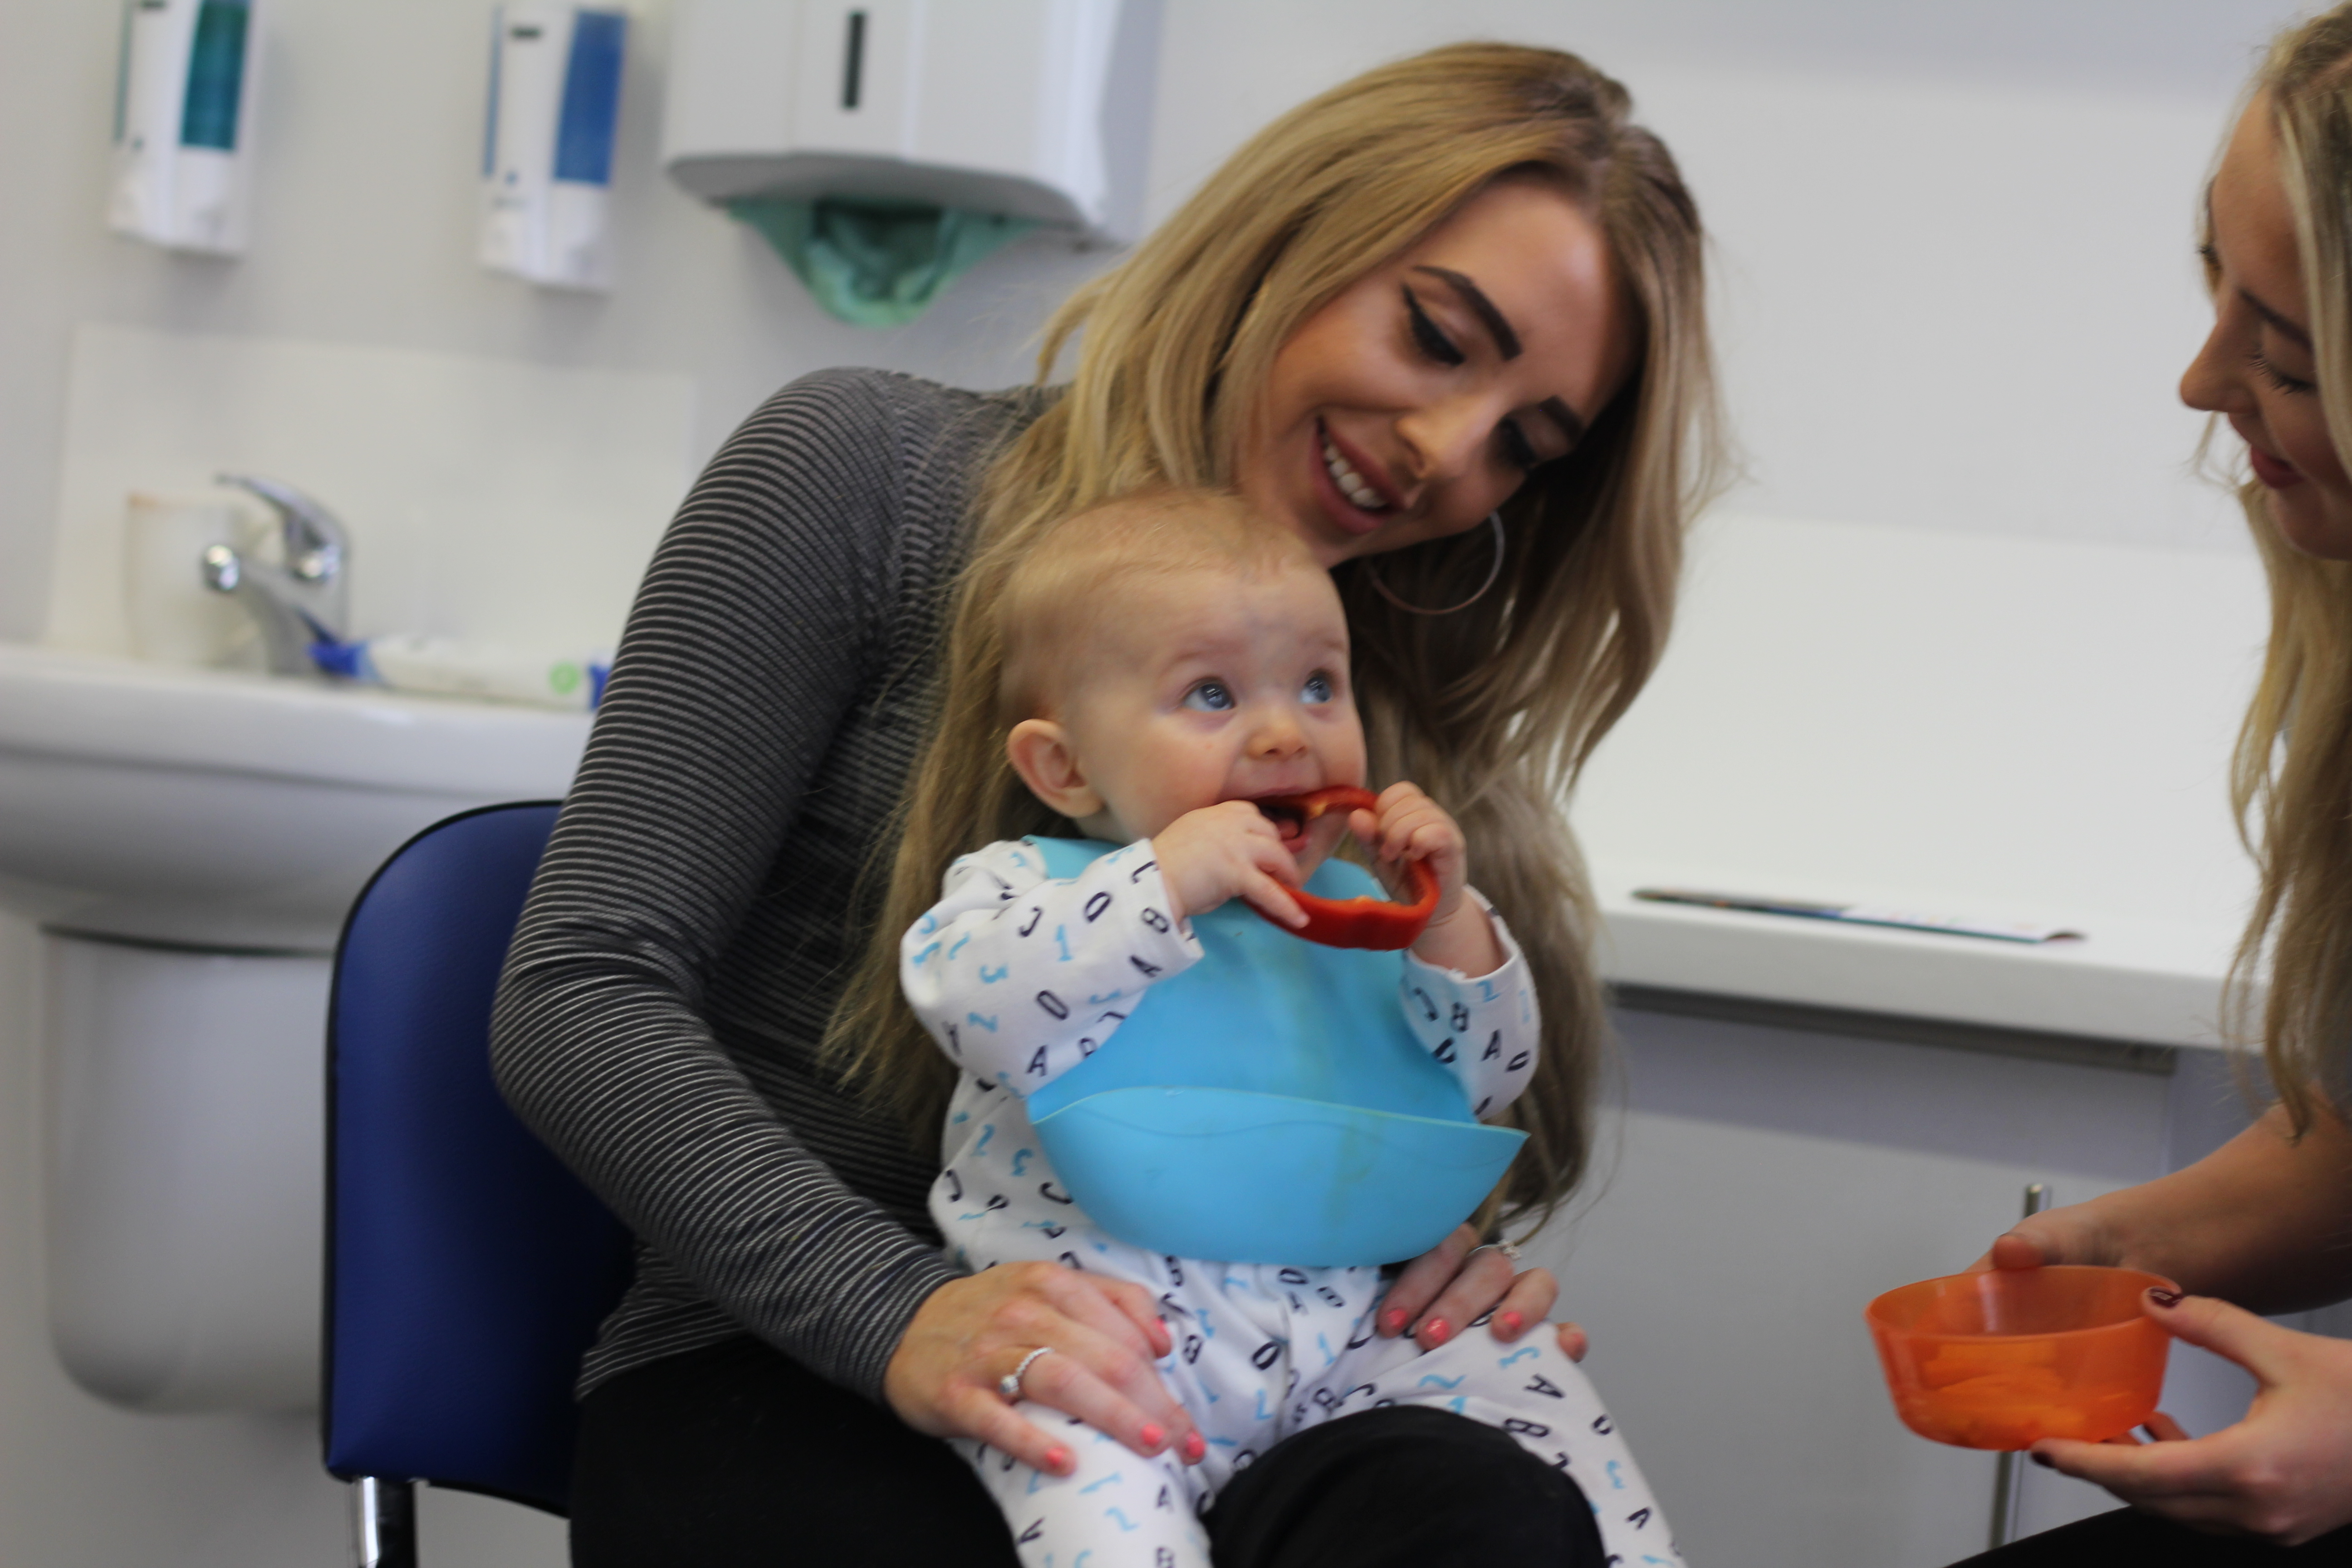
[(555, 802), (426, 827), (374, 875), (327, 1009), (327, 1472), (362, 1568), (416, 1563), (414, 1483), (567, 1512), (572, 1382), (628, 1232), (489, 1077), (489, 1004)]

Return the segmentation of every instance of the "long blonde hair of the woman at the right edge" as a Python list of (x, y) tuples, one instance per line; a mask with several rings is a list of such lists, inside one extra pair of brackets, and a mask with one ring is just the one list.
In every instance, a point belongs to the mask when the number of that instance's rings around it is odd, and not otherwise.
[[(2352, 454), (2352, 5), (2279, 35), (2253, 94), (2296, 214), (2319, 407), (2336, 451)], [(2263, 496), (2239, 491), (2270, 576), (2270, 651), (2230, 780), (2263, 879), (2227, 1018), (2263, 1041), (2303, 1135), (2321, 1105), (2352, 1105), (2352, 562), (2296, 550)]]

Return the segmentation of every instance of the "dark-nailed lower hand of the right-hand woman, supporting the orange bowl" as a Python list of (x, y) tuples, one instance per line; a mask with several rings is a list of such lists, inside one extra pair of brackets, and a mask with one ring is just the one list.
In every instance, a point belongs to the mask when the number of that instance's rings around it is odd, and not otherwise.
[(2034, 1443), (2037, 1462), (2209, 1535), (2296, 1547), (2352, 1523), (2352, 1342), (2296, 1333), (2209, 1295), (2147, 1293), (2166, 1333), (2237, 1361), (2260, 1382), (2234, 1427), (2154, 1443)]

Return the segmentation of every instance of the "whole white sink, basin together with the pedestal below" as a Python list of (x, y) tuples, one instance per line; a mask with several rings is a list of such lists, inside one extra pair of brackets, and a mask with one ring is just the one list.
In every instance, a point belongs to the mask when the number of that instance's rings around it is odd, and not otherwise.
[(49, 1338), (134, 1410), (318, 1387), (343, 910), (419, 827), (560, 797), (588, 715), (0, 644), (0, 907), (47, 929)]

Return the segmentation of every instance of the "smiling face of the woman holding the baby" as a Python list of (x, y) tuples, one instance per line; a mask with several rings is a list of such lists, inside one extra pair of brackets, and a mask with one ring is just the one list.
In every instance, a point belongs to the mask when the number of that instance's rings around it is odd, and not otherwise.
[(1630, 315), (1576, 200), (1496, 181), (1301, 322), (1237, 487), (1324, 567), (1475, 527), (1599, 418)]

